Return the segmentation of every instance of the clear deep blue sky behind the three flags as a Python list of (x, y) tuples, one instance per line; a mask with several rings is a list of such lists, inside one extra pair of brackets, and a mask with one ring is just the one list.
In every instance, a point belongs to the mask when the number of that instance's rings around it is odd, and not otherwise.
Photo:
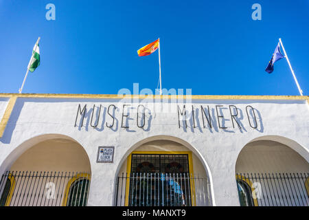
[[(56, 21), (45, 5), (54, 3)], [(260, 3), (262, 20), (251, 5)], [(194, 95), (299, 95), (285, 59), (264, 69), (278, 39), (309, 94), (309, 1), (0, 0), (0, 92), (17, 93), (41, 36), (41, 65), (23, 93), (117, 94), (156, 89), (158, 54), (137, 50), (161, 39), (163, 88)]]

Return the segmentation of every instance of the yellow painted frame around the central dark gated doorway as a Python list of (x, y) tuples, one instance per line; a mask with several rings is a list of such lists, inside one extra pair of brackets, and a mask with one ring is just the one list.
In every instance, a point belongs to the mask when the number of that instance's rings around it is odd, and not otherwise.
[[(127, 165), (126, 165), (126, 173), (130, 176), (131, 172), (131, 161), (133, 154), (187, 154), (188, 155), (188, 162), (189, 162), (189, 172), (190, 175), (194, 177), (193, 172), (193, 160), (192, 160), (192, 152), (191, 151), (133, 151), (128, 155), (127, 158)], [(126, 201), (124, 206), (128, 206), (128, 197), (129, 197), (129, 188), (130, 188), (130, 179), (126, 179)], [(191, 188), (191, 203), (192, 206), (196, 206), (196, 197), (195, 197), (195, 182), (194, 179), (190, 177), (190, 188)], [(194, 196), (193, 196), (194, 195)]]

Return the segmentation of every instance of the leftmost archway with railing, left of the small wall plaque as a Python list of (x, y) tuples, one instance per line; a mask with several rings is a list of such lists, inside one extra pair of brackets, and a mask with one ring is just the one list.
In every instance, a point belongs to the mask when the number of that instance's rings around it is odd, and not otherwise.
[(33, 137), (6, 157), (1, 170), (1, 206), (87, 205), (91, 165), (71, 137)]

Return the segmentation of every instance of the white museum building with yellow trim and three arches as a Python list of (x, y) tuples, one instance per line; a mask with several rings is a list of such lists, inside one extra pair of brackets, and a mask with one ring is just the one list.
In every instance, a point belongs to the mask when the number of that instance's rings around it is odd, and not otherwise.
[(0, 94), (0, 206), (308, 206), (308, 100)]

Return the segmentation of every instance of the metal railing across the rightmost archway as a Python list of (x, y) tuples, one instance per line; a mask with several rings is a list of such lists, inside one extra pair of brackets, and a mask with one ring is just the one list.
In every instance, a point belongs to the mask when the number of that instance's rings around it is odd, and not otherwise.
[(309, 173), (237, 173), (240, 205), (308, 206), (308, 177)]

